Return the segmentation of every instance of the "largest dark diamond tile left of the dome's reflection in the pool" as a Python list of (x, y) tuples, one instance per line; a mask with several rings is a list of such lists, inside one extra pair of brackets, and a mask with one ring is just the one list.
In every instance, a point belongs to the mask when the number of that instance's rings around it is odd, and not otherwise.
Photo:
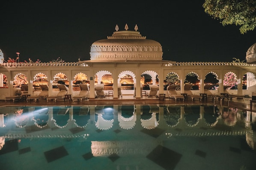
[(45, 158), (48, 162), (52, 162), (55, 161), (59, 158), (62, 158), (64, 156), (67, 156), (68, 152), (65, 149), (65, 147), (57, 147), (53, 150), (48, 150), (45, 152)]

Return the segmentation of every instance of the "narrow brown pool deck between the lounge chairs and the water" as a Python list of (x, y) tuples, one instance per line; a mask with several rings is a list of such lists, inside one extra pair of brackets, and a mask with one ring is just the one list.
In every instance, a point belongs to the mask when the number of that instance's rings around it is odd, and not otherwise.
[[(232, 99), (229, 100), (229, 107), (236, 107), (238, 109), (242, 110), (247, 110), (250, 111), (250, 100), (252, 98), (244, 98), (244, 99)], [(95, 98), (95, 99), (88, 99), (88, 100), (83, 100), (82, 102), (75, 100), (74, 102), (71, 101), (64, 101), (63, 99), (57, 100), (57, 102), (53, 101), (46, 101), (46, 100), (39, 100), (39, 101), (25, 101), (25, 100), (15, 100), (13, 102), (12, 100), (0, 101), (0, 106), (71, 106), (71, 105), (76, 105), (76, 106), (81, 106), (81, 105), (116, 105), (116, 104), (165, 104), (165, 105), (170, 105), (170, 104), (213, 104), (212, 99), (208, 100), (202, 100), (199, 101), (199, 99), (194, 99), (192, 101), (191, 98), (185, 99), (183, 102), (182, 100), (177, 100), (175, 101), (174, 99), (169, 99), (165, 98), (165, 100), (159, 100), (159, 98), (142, 98), (142, 99), (134, 99), (131, 96), (123, 96), (123, 98), (119, 99), (113, 99), (113, 98)], [(215, 104), (219, 105), (220, 100), (215, 99)], [(228, 101), (225, 100), (223, 102), (223, 106), (228, 106)], [(252, 111), (256, 112), (256, 103), (253, 103), (252, 105)]]

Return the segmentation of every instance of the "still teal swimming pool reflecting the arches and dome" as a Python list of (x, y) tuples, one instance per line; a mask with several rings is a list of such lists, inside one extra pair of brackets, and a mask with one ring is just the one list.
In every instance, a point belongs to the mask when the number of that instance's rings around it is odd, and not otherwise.
[(0, 107), (0, 169), (254, 170), (255, 119), (213, 105)]

